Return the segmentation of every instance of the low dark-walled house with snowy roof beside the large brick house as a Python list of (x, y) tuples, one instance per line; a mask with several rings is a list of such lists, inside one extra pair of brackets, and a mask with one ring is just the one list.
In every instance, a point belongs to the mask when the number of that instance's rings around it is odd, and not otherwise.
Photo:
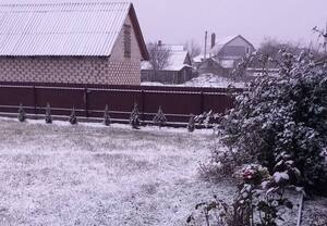
[(190, 54), (183, 46), (165, 46), (170, 49), (170, 56), (165, 68), (155, 72), (149, 62), (142, 62), (142, 81), (157, 81), (162, 84), (182, 84), (193, 77)]

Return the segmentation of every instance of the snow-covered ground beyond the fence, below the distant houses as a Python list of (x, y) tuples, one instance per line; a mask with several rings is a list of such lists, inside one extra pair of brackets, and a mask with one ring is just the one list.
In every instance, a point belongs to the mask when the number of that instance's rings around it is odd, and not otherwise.
[[(164, 86), (161, 83), (152, 83), (152, 81), (144, 81), (142, 83), (143, 86)], [(165, 86), (167, 86), (165, 84)], [(168, 85), (168, 86), (179, 86), (179, 87), (215, 87), (215, 88), (227, 88), (229, 86), (234, 86), (237, 88), (244, 88), (245, 83), (242, 81), (232, 81), (226, 77), (217, 76), (214, 74), (204, 74), (195, 77), (185, 84), (180, 85)]]

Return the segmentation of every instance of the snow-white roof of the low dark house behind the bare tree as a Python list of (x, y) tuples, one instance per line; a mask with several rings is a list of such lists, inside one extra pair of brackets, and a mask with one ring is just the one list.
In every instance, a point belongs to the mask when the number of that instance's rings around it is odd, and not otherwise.
[[(171, 53), (168, 60), (168, 65), (162, 68), (162, 71), (181, 71), (184, 67), (192, 67), (191, 65), (185, 64), (185, 61), (189, 58), (187, 51), (184, 51), (183, 49), (181, 50), (179, 46), (170, 46), (169, 48)], [(146, 61), (142, 63), (141, 68), (152, 70), (153, 66), (148, 61)]]

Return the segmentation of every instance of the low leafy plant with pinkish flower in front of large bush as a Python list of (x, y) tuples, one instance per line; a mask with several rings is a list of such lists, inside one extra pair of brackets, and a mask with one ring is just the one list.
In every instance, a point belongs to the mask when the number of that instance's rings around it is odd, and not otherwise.
[(268, 170), (258, 164), (246, 165), (237, 175), (241, 184), (232, 204), (214, 196), (211, 201), (197, 204), (186, 222), (221, 226), (277, 226), (282, 222), (284, 210), (293, 206), (283, 197), (288, 183), (276, 183)]

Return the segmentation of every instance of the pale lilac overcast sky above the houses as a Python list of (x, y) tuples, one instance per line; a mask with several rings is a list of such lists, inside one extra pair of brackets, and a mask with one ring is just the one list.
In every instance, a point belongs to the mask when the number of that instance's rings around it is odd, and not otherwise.
[[(81, 2), (98, 0), (1, 0), (14, 2)], [(99, 0), (108, 1), (108, 0)], [(204, 33), (217, 38), (243, 35), (255, 46), (265, 37), (302, 43), (316, 42), (314, 26), (326, 27), (327, 0), (131, 0), (149, 40), (204, 42)]]

